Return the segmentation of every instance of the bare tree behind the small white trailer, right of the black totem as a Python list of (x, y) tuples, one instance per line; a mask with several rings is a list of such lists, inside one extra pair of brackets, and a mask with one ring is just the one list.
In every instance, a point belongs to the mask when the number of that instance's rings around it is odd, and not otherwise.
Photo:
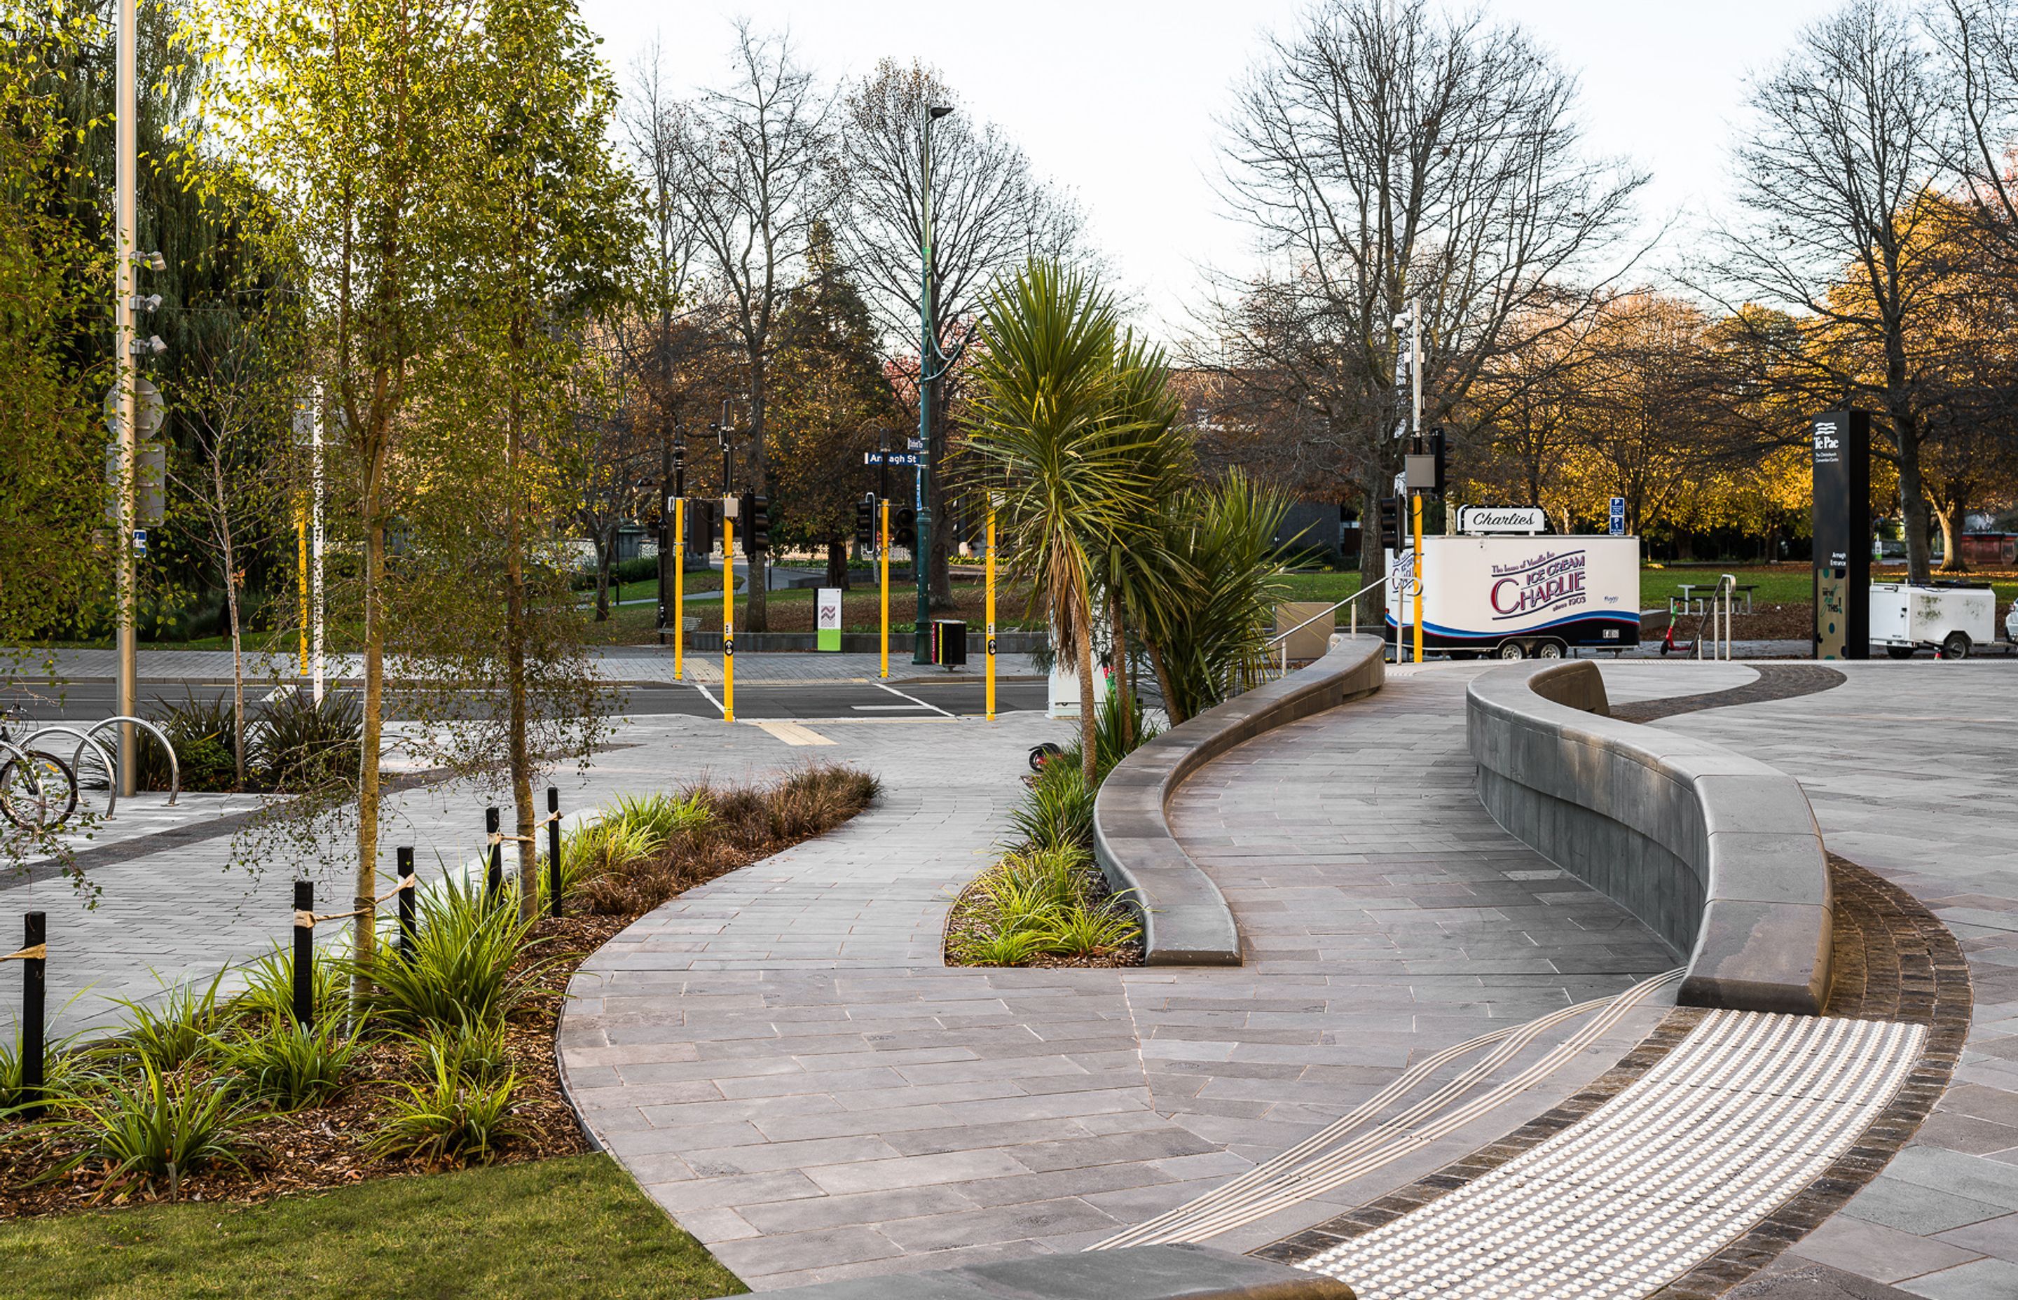
[[(1955, 155), (1953, 113), (1917, 20), (1889, 0), (1851, 0), (1804, 28), (1752, 85), (1754, 123), (1735, 149), (1737, 204), (1750, 216), (1719, 232), (1705, 289), (1731, 321), (1764, 321), (1744, 303), (1814, 321), (1798, 347), (1774, 349), (1788, 382), (1869, 400), (1883, 414), (1873, 448), (1899, 466), (1907, 575), (1927, 581), (1921, 442), (1937, 365), (1911, 335), (1939, 299), (1939, 220), (1925, 196)], [(1774, 337), (1760, 343), (1772, 347)]]

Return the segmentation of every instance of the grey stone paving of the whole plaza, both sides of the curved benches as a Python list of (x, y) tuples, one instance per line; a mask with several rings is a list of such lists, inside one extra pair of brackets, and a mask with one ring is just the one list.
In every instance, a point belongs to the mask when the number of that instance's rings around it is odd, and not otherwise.
[[(1086, 1250), (1209, 1197), (1437, 1052), (1681, 965), (1483, 811), (1463, 711), (1481, 670), (1396, 668), (1378, 694), (1251, 741), (1181, 789), (1172, 830), (1247, 947), (1231, 969), (944, 967), (946, 910), (1005, 834), (1027, 747), (1070, 725), (1035, 713), (993, 725), (634, 717), (591, 771), (563, 773), (563, 807), (807, 757), (862, 765), (886, 795), (597, 953), (563, 1021), (573, 1096), (650, 1195), (759, 1290)], [(1713, 702), (1756, 680), (1744, 664), (1602, 670), (1614, 705)], [(1976, 1021), (1953, 1086), (1907, 1149), (1733, 1294), (2008, 1300), (2018, 694), (1996, 662), (1842, 670), (1828, 690), (1740, 696), (1653, 725), (1798, 777), (1832, 852), (1911, 890), (1961, 939)], [(442, 785), (402, 791), (387, 858), (414, 844), (424, 874), (466, 860), (482, 801)], [(157, 803), (135, 801), (121, 836), (174, 828), (182, 842), (107, 852), (91, 870), (95, 908), (59, 880), (0, 886), (10, 912), (50, 912), (63, 1030), (111, 1023), (115, 999), (208, 979), (287, 935), (287, 882), (313, 864), (226, 868), (228, 836), (196, 834), (244, 801)], [(339, 888), (341, 868), (325, 878)], [(16, 999), (18, 969), (0, 967), (0, 1007)], [(1497, 1108), (1209, 1243), (1257, 1250), (1396, 1195), (1604, 1076), (1669, 1003), (1657, 991), (1588, 1042), (1574, 1021), (1536, 1034), (1483, 1078), (1505, 1092)], [(1532, 1078), (1552, 1054), (1560, 1068)]]

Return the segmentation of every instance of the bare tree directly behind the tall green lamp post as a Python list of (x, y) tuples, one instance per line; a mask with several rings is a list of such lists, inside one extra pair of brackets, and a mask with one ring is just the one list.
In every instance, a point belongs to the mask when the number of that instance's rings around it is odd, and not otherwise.
[[(959, 111), (959, 95), (936, 69), (922, 63), (902, 67), (892, 59), (878, 63), (844, 99), (842, 166), (848, 186), (837, 238), (894, 359), (914, 355), (920, 341), (924, 113), (934, 105), (957, 109), (932, 127), (936, 283), (930, 327), (942, 347), (952, 349), (963, 323), (981, 315), (981, 295), (997, 275), (1029, 258), (1072, 260), (1084, 226), (1078, 206), (1037, 178), (1015, 141), (993, 123)], [(902, 361), (900, 369), (914, 373)], [(936, 392), (926, 484), (934, 519), (946, 519), (946, 432), (963, 377), (965, 371), (952, 367)], [(952, 604), (950, 541), (950, 529), (932, 535), (930, 587), (936, 606)]]

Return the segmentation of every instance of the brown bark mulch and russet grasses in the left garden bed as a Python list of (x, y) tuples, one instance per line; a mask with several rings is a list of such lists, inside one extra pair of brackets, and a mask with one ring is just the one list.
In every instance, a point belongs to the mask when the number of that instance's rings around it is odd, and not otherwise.
[[(839, 811), (839, 809), (837, 809)], [(831, 826), (781, 840), (741, 840), (714, 844), (696, 854), (698, 866), (680, 864), (676, 896), (724, 872), (769, 858), (801, 840), (833, 830), (860, 809), (842, 811)], [(664, 874), (660, 876), (664, 878)], [(664, 896), (660, 900), (664, 900)], [(507, 1019), (507, 1050), (519, 1084), (515, 1090), (517, 1132), (490, 1163), (513, 1165), (591, 1151), (573, 1106), (561, 1092), (555, 1032), (567, 1001), (567, 983), (603, 943), (658, 902), (626, 914), (579, 912), (537, 923), (515, 965), (529, 973), (529, 991)], [(198, 1068), (200, 1070), (200, 1068)], [(244, 1167), (210, 1165), (182, 1179), (182, 1201), (252, 1203), (297, 1191), (331, 1191), (365, 1179), (434, 1173), (438, 1167), (416, 1159), (396, 1159), (371, 1149), (383, 1130), (391, 1104), (406, 1096), (404, 1084), (424, 1082), (426, 1054), (412, 1042), (373, 1042), (337, 1096), (293, 1114), (258, 1118), (238, 1130)], [(222, 1084), (222, 1080), (218, 1080)], [(198, 1084), (202, 1086), (202, 1082)], [(167, 1201), (165, 1185), (113, 1179), (101, 1161), (50, 1177), (83, 1149), (50, 1120), (40, 1124), (20, 1116), (0, 1118), (0, 1219), (40, 1217)]]

